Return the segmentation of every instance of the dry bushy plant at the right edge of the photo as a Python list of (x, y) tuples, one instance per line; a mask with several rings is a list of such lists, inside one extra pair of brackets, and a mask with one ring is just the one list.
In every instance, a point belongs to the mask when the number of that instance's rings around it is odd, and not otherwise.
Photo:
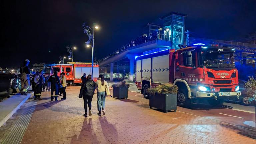
[(249, 76), (249, 80), (245, 83), (245, 90), (248, 96), (250, 96), (249, 101), (256, 101), (256, 78)]

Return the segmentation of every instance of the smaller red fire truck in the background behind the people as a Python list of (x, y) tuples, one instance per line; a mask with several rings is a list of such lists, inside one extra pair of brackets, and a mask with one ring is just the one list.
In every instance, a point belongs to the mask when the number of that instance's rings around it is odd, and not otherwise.
[[(53, 75), (54, 71), (60, 73), (64, 72), (67, 78), (67, 83), (82, 83), (81, 77), (84, 73), (91, 74), (92, 63), (69, 62), (69, 64), (49, 64), (44, 66), (44, 73), (46, 75)], [(99, 65), (93, 66), (93, 80), (97, 81), (99, 77)]]

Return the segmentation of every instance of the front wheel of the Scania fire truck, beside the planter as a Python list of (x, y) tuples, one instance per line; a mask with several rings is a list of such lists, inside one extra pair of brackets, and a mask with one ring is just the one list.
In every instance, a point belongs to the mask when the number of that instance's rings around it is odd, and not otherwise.
[(188, 107), (190, 105), (190, 99), (186, 90), (179, 89), (177, 93), (177, 105), (181, 107)]

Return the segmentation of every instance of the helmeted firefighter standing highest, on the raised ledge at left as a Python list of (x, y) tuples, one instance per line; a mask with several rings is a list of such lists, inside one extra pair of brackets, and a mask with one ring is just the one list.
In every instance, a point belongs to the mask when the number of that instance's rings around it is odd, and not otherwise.
[(27, 90), (30, 86), (30, 69), (28, 67), (29, 65), (29, 60), (26, 59), (23, 62), (23, 66), (20, 67), (20, 73), (21, 73), (21, 95), (28, 95)]

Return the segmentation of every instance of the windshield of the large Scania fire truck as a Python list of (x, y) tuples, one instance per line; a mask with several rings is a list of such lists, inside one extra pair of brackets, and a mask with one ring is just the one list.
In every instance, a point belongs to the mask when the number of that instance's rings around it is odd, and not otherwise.
[(228, 49), (209, 48), (201, 52), (202, 65), (211, 68), (235, 68), (234, 52)]

